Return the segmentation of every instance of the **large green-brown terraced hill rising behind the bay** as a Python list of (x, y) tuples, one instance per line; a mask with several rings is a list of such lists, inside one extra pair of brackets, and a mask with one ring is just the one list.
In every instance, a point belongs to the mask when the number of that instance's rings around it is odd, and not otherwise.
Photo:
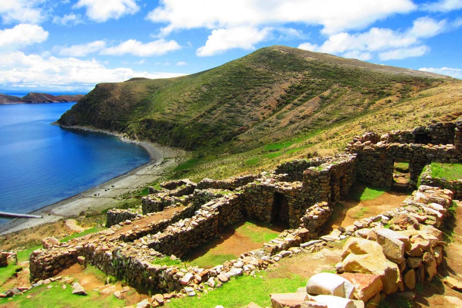
[(117, 130), (204, 153), (237, 153), (305, 138), (451, 80), (273, 46), (188, 76), (99, 84), (59, 123)]

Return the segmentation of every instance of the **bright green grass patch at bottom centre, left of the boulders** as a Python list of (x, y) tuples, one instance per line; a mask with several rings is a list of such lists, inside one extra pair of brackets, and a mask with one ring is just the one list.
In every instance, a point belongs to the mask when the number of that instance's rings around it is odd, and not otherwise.
[(270, 293), (295, 292), (306, 285), (306, 279), (298, 275), (290, 278), (270, 278), (267, 272), (258, 272), (257, 277), (241, 276), (231, 278), (217, 290), (203, 294), (201, 298), (189, 297), (172, 299), (168, 308), (214, 308), (222, 305), (226, 308), (243, 307), (255, 302), (261, 307), (271, 307)]

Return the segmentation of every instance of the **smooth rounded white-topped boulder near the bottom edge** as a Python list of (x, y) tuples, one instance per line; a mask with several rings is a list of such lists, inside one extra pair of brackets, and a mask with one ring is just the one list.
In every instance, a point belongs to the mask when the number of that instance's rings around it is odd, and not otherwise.
[(354, 291), (351, 282), (332, 273), (313, 275), (306, 284), (306, 293), (316, 295), (333, 295), (352, 299)]

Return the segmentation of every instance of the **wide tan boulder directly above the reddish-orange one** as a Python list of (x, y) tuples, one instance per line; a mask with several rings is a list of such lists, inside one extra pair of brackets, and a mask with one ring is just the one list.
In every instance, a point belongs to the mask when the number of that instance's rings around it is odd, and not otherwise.
[(372, 254), (349, 254), (342, 261), (345, 272), (374, 274), (380, 277), (386, 294), (395, 293), (401, 282), (398, 266), (389, 261), (383, 260)]

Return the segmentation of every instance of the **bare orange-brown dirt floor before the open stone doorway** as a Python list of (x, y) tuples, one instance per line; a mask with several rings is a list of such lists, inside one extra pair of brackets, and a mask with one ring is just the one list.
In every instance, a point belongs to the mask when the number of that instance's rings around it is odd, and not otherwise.
[(383, 211), (391, 210), (400, 205), (407, 195), (408, 193), (388, 191), (376, 199), (367, 201), (346, 199), (340, 205), (334, 207), (334, 214), (330, 218), (329, 226), (326, 227), (325, 231), (330, 232), (338, 227), (346, 227), (361, 218), (371, 217)]

